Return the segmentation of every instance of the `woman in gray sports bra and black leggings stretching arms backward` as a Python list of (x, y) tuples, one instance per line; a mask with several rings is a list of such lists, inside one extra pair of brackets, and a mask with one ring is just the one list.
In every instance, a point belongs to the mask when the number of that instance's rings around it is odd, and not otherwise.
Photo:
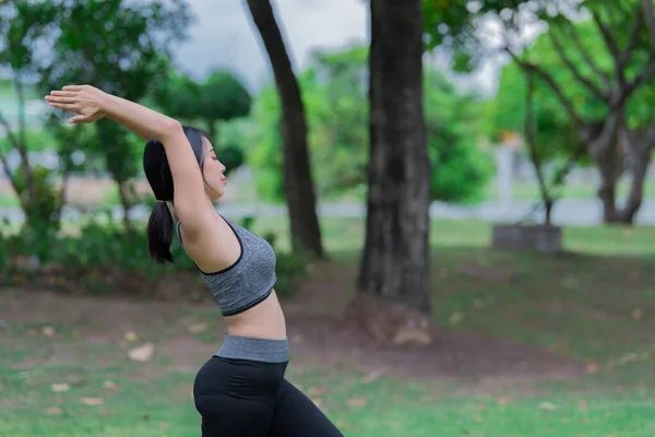
[(90, 85), (64, 86), (46, 101), (75, 114), (69, 122), (111, 119), (146, 140), (143, 165), (157, 199), (147, 225), (157, 262), (172, 262), (174, 220), (184, 251), (216, 297), (227, 326), (221, 350), (198, 373), (193, 395), (202, 435), (333, 437), (343, 434), (285, 379), (286, 323), (275, 253), (261, 237), (216, 213), (225, 166), (207, 137), (144, 106)]

